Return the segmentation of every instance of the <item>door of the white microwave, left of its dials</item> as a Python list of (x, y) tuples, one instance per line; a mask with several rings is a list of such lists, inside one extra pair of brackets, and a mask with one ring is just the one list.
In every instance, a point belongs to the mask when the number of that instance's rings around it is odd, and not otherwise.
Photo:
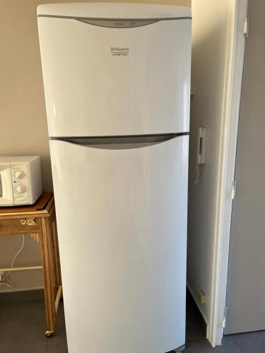
[(0, 206), (13, 206), (13, 186), (10, 164), (0, 164)]

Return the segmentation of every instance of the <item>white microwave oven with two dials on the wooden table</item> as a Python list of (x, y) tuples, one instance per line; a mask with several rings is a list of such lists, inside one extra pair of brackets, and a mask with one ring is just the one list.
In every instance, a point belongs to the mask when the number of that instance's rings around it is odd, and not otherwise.
[(0, 156), (0, 207), (32, 205), (41, 193), (40, 156)]

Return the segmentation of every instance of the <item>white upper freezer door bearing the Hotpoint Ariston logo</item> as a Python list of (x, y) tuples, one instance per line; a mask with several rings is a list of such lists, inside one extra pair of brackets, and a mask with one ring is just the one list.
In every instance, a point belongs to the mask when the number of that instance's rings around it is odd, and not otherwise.
[(192, 20), (94, 22), (38, 18), (49, 136), (189, 131)]

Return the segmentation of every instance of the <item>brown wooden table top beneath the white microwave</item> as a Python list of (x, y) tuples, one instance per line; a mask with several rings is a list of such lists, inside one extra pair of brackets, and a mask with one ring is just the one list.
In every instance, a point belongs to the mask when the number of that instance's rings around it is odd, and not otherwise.
[(44, 192), (33, 205), (0, 207), (0, 218), (6, 215), (48, 214), (53, 204), (54, 204), (53, 194)]

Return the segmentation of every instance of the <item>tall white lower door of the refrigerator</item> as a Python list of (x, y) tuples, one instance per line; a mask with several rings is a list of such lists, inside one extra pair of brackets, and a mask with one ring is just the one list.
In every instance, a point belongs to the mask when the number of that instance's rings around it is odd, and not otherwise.
[(69, 353), (184, 345), (188, 141), (50, 141)]

